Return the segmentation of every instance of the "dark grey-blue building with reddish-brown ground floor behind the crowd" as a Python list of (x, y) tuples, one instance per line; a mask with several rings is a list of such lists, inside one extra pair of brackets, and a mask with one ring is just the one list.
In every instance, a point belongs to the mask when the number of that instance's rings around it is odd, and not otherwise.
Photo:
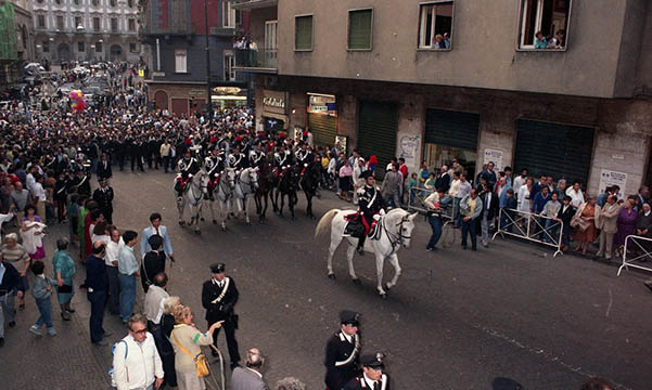
[(141, 40), (150, 68), (145, 82), (156, 108), (178, 116), (204, 112), (207, 83), (213, 106), (246, 105), (251, 77), (236, 77), (233, 69), (233, 42), (246, 21), (231, 1), (146, 0), (142, 4)]

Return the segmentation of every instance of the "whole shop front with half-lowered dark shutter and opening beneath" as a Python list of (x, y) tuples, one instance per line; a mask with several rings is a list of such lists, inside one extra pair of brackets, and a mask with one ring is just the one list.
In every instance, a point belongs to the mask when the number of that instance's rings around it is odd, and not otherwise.
[(469, 181), (475, 179), (480, 115), (429, 108), (425, 113), (424, 159), (429, 168), (456, 159)]

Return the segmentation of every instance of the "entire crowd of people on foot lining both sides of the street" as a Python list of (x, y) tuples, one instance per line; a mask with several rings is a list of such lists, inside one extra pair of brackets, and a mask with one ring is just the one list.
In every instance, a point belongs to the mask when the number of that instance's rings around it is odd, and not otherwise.
[[(120, 74), (119, 80), (125, 80), (122, 70), (111, 78), (115, 80)], [(128, 76), (126, 82), (123, 87), (132, 83)], [(62, 320), (71, 321), (77, 273), (74, 258), (78, 257), (86, 266), (81, 287), (91, 304), (91, 342), (107, 346), (105, 339), (112, 336), (103, 328), (105, 308), (127, 327), (128, 335), (112, 347), (113, 380), (120, 390), (159, 388), (164, 384), (203, 389), (206, 372), (197, 352), (201, 346), (215, 347), (221, 328), (233, 372), (231, 387), (265, 389), (267, 385), (261, 375), (266, 356), (259, 349), (246, 350), (244, 367), (240, 365), (235, 338), (239, 291), (233, 278), (226, 275), (226, 265), (210, 265), (203, 285), (202, 306), (208, 328), (202, 332), (195, 326), (193, 310), (167, 290), (165, 266), (175, 256), (161, 214), (153, 212), (140, 233), (122, 231), (114, 222), (114, 192), (110, 185), (113, 169), (144, 172), (146, 166), (175, 171), (189, 155), (200, 157), (200, 165), (214, 157), (233, 168), (267, 161), (280, 170), (316, 162), (323, 171), (323, 188), (337, 191), (342, 199), (361, 203), (361, 207), (369, 207), (366, 191), (374, 187), (371, 174), (381, 169), (385, 177), (379, 188), (379, 198), (383, 199), (379, 208), (405, 207), (418, 197), (429, 207), (433, 227), (429, 250), (437, 250), (443, 209), (450, 209), (456, 226), (461, 227), (464, 249), (466, 237), (471, 237), (472, 250), (476, 250), (476, 230), (482, 244), (488, 246), (490, 225), (504, 222), (497, 220), (501, 208), (562, 221), (564, 250), (573, 235), (577, 249), (586, 252), (585, 243), (593, 242), (598, 230), (602, 231), (598, 255), (608, 258), (612, 256), (612, 243), (618, 248), (628, 234), (652, 236), (650, 192), (645, 187), (623, 202), (615, 186), (592, 198), (585, 196), (579, 183), (566, 187), (564, 180), (558, 180), (554, 185), (547, 176), (535, 183), (527, 170), (512, 178), (509, 167), (495, 172), (493, 162), (473, 184), (457, 160), (437, 171), (430, 171), (423, 164), (419, 172), (410, 173), (404, 158), (394, 158), (379, 168), (376, 156), (361, 156), (357, 151), (348, 156), (336, 143), (332, 147), (315, 146), (309, 129), (299, 140), (256, 129), (251, 109), (220, 109), (210, 118), (200, 114), (177, 117), (166, 110), (146, 112), (142, 102), (128, 98), (130, 93), (140, 95), (125, 88), (116, 92), (115, 99), (81, 114), (74, 113), (69, 104), (59, 105), (63, 109), (42, 106), (26, 113), (18, 109), (18, 103), (0, 113), (0, 222), (13, 223), (5, 231), (18, 232), (7, 234), (0, 247), (0, 347), (4, 323), (16, 326), (15, 309), (25, 307), (29, 290), (40, 313), (29, 332), (41, 336), (44, 326), (49, 335), (56, 335), (53, 294)], [(56, 99), (65, 103), (67, 98)], [(91, 186), (93, 177), (97, 187)], [(69, 235), (56, 240), (51, 260), (53, 277), (48, 277), (42, 234), (55, 223), (67, 223)], [(553, 227), (545, 226), (542, 231), (547, 229)], [(78, 247), (77, 256), (73, 247)], [(34, 274), (31, 286), (28, 272)], [(138, 278), (145, 297), (142, 314), (133, 314)], [(344, 311), (340, 320), (341, 328), (329, 339), (325, 351), (327, 386), (331, 390), (387, 389), (384, 356), (361, 354), (360, 314)], [(148, 352), (130, 353), (139, 349)], [(305, 389), (305, 385), (286, 378), (276, 388)]]

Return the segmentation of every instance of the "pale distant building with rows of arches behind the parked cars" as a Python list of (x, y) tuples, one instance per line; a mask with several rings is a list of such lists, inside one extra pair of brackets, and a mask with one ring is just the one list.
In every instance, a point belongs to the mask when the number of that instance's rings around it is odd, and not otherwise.
[(31, 0), (37, 60), (140, 58), (137, 0)]

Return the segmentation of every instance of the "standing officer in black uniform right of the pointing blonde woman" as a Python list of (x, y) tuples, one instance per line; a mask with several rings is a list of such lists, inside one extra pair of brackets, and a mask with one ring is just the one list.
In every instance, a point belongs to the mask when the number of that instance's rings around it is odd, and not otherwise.
[[(235, 340), (238, 315), (233, 312), (238, 303), (238, 288), (235, 282), (225, 275), (226, 265), (215, 263), (210, 265), (210, 278), (202, 286), (202, 306), (206, 309), (208, 326), (218, 321), (223, 321), (222, 328), (227, 334), (227, 346), (231, 358), (231, 370), (240, 365), (240, 352)], [(219, 328), (213, 333), (213, 343), (217, 346)], [(217, 353), (214, 351), (214, 355)]]

